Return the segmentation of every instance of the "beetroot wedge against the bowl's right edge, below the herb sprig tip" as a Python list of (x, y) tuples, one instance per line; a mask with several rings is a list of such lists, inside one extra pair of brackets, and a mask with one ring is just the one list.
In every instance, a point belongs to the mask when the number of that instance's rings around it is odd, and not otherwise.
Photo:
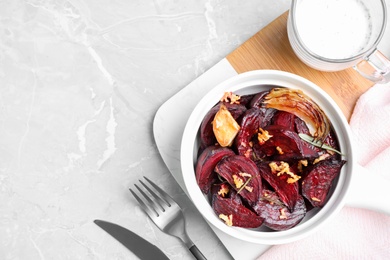
[(325, 205), (333, 180), (339, 175), (344, 160), (328, 159), (313, 165), (302, 181), (302, 195), (313, 205)]

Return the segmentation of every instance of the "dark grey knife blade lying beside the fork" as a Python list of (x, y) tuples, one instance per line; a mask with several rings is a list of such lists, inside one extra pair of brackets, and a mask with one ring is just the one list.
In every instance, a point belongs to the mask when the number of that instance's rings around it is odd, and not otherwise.
[(93, 221), (96, 225), (118, 240), (127, 249), (133, 252), (142, 260), (155, 260), (169, 258), (155, 245), (143, 239), (132, 231), (117, 224), (96, 219)]

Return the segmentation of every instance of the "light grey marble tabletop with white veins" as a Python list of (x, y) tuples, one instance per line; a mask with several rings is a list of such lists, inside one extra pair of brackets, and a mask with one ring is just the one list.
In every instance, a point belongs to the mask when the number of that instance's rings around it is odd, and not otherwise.
[(229, 259), (160, 157), (153, 119), (289, 5), (1, 1), (0, 259), (134, 259), (96, 218), (190, 259), (130, 195), (144, 175), (184, 207), (208, 259)]

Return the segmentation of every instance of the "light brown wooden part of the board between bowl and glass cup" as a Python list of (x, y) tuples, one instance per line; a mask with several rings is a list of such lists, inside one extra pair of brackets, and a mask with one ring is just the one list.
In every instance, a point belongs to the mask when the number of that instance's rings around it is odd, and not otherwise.
[(373, 82), (354, 69), (321, 72), (301, 62), (287, 36), (288, 12), (264, 27), (226, 58), (237, 73), (257, 69), (276, 69), (300, 75), (324, 89), (349, 120), (357, 99)]

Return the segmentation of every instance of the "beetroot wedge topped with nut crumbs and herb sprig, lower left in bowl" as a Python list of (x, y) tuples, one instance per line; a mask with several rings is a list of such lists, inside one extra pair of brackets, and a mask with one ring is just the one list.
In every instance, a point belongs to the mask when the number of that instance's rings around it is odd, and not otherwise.
[(224, 178), (249, 205), (257, 203), (261, 192), (261, 177), (256, 164), (242, 155), (223, 158), (215, 171)]

